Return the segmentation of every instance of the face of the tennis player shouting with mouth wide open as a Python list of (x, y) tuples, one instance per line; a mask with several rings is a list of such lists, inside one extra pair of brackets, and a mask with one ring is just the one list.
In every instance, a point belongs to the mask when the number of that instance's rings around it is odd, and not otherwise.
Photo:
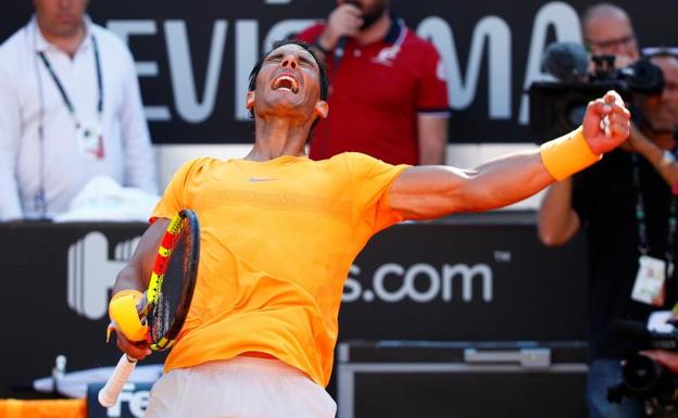
[(298, 45), (279, 47), (264, 59), (254, 96), (248, 97), (248, 106), (254, 106), (258, 115), (311, 116), (318, 102), (318, 65), (313, 55)]

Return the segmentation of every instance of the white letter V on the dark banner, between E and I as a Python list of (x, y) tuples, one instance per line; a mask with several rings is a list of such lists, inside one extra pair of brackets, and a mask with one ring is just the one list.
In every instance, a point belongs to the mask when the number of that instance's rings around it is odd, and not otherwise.
[(214, 111), (227, 27), (228, 22), (226, 21), (219, 20), (214, 23), (208, 74), (205, 76), (202, 100), (199, 102), (191, 54), (188, 48), (186, 23), (184, 21), (165, 22), (167, 58), (170, 61), (174, 101), (179, 116), (186, 122), (192, 124), (204, 122)]

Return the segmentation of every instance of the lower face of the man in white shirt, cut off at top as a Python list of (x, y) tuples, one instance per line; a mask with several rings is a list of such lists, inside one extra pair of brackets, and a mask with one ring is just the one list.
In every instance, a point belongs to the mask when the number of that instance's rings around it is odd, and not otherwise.
[(34, 0), (36, 15), (42, 30), (50, 35), (75, 35), (83, 24), (88, 0)]

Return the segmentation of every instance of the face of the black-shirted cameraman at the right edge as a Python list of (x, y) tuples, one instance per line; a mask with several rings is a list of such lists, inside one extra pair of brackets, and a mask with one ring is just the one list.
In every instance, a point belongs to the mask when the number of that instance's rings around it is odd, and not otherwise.
[(664, 91), (642, 100), (641, 112), (654, 131), (674, 132), (678, 129), (678, 59), (656, 56), (652, 63), (664, 74)]

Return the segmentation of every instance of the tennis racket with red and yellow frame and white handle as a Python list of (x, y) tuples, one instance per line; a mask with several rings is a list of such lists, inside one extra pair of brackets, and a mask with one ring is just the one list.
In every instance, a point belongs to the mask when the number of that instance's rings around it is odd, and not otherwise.
[[(179, 212), (167, 226), (155, 257), (149, 287), (137, 304), (141, 322), (148, 326), (146, 340), (151, 350), (172, 347), (190, 308), (200, 255), (200, 226), (190, 210)], [(99, 403), (110, 408), (117, 401), (137, 360), (123, 354), (105, 385)]]

